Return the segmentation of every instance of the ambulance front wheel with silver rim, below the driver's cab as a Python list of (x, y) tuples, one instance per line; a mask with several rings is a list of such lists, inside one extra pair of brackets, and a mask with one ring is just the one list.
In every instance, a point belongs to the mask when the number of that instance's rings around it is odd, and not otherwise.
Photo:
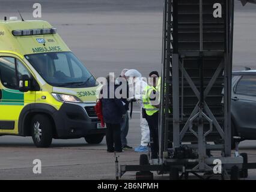
[(52, 122), (46, 115), (38, 114), (32, 118), (31, 133), (38, 148), (47, 148), (52, 144)]

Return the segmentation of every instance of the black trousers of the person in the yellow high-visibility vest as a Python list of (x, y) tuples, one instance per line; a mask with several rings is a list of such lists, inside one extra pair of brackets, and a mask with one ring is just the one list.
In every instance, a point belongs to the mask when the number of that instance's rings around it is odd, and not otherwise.
[(151, 158), (158, 158), (159, 152), (159, 139), (158, 139), (158, 116), (159, 112), (154, 113), (154, 115), (147, 115), (148, 127), (150, 129), (150, 144)]

